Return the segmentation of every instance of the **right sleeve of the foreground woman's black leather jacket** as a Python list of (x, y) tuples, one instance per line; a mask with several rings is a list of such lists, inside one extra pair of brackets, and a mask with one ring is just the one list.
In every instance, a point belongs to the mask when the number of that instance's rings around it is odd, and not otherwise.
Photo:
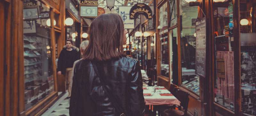
[(145, 114), (145, 100), (143, 96), (142, 76), (138, 60), (136, 60), (132, 69), (132, 77), (129, 80), (128, 92), (130, 95), (128, 103), (130, 110), (130, 112), (128, 112), (130, 113), (129, 116), (143, 116)]

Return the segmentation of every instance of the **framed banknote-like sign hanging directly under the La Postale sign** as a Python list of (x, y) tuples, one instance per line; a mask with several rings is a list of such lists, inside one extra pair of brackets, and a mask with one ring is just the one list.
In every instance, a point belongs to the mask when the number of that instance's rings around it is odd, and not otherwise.
[(80, 17), (97, 17), (98, 6), (80, 6)]

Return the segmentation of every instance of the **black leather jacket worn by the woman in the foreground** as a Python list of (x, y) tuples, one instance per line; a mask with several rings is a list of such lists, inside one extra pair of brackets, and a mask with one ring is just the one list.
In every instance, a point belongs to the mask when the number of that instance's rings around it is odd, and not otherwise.
[[(126, 116), (142, 116), (145, 102), (139, 61), (130, 57), (97, 62), (112, 94)], [(69, 107), (70, 116), (119, 116), (100, 84), (92, 61), (76, 63)]]

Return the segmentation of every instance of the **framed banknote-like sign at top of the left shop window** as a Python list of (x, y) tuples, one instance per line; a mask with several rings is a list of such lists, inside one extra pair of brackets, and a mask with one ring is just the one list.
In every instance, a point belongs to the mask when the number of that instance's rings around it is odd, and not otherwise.
[(38, 18), (38, 10), (37, 8), (31, 9), (23, 9), (23, 19), (37, 19)]

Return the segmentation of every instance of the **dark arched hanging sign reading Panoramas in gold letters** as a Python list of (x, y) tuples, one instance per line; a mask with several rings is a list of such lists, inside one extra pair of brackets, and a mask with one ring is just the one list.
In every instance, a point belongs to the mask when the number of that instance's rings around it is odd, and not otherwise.
[(130, 10), (130, 19), (136, 19), (139, 15), (144, 15), (147, 19), (151, 19), (152, 10), (145, 3), (137, 3)]

